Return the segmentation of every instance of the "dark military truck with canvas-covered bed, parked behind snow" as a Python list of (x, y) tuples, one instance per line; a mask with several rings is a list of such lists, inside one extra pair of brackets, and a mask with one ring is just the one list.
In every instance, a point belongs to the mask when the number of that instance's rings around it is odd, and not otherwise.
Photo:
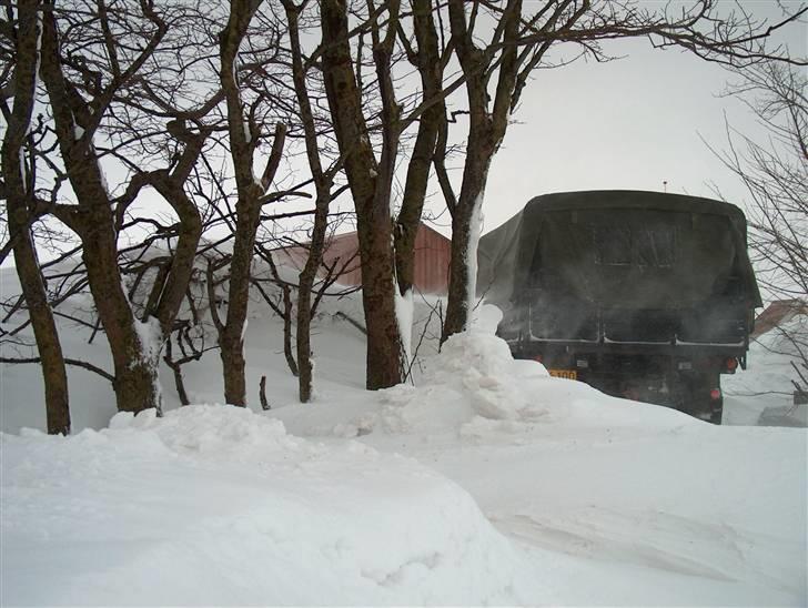
[(761, 306), (729, 203), (636, 191), (546, 194), (484, 235), (477, 287), (517, 358), (720, 424)]

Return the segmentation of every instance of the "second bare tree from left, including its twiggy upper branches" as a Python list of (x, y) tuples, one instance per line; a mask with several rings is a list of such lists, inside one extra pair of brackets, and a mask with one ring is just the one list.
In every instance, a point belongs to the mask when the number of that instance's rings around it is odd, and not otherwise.
[[(210, 134), (200, 122), (210, 105), (180, 113), (171, 112), (164, 101), (178, 97), (173, 70), (181, 70), (176, 61), (188, 38), (182, 31), (176, 38), (170, 33), (183, 22), (182, 10), (164, 14), (150, 2), (137, 7), (46, 3), (42, 21), (40, 74), (63, 165), (57, 181), (69, 182), (77, 201), (53, 203), (50, 211), (81, 240), (88, 284), (112, 352), (118, 408), (159, 411), (160, 353), (184, 297), (202, 230), (184, 183)], [(158, 54), (163, 52), (161, 62)], [(162, 90), (161, 83), (165, 84)], [(135, 90), (138, 94), (133, 94)], [(143, 109), (139, 100), (149, 98), (156, 100), (158, 108), (162, 105), (164, 118), (171, 119), (166, 130), (174, 143), (163, 145), (176, 153), (168, 166), (143, 171), (114, 149), (107, 151), (132, 170), (125, 192), (115, 199), (105, 182), (103, 140), (99, 138), (104, 133), (112, 140), (143, 141), (142, 133), (132, 133), (131, 128), (139, 124), (120, 120), (120, 115), (131, 118)], [(121, 105), (129, 111), (115, 112)], [(52, 168), (60, 171), (55, 163)], [(129, 205), (147, 186), (171, 205), (180, 217), (180, 229), (170, 266), (155, 283), (142, 318), (138, 318), (122, 283), (118, 237)]]

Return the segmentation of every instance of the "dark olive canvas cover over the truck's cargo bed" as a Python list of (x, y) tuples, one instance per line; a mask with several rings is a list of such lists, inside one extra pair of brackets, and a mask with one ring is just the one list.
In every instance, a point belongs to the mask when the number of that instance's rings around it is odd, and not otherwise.
[(746, 219), (729, 203), (637, 191), (546, 194), (484, 235), (479, 295), (506, 313), (536, 290), (624, 310), (687, 308), (727, 293), (761, 305)]

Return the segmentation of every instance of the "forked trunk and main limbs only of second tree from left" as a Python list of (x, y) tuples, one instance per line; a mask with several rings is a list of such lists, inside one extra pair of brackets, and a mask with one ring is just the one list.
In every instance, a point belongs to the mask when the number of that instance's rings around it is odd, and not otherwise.
[[(114, 389), (118, 408), (122, 412), (141, 412), (151, 407), (160, 413), (161, 396), (158, 365), (165, 335), (176, 317), (193, 270), (193, 259), (201, 234), (199, 212), (183, 191), (202, 144), (210, 130), (200, 128), (190, 133), (183, 121), (169, 123), (169, 132), (184, 143), (184, 150), (169, 173), (168, 170), (139, 173), (129, 183), (127, 192), (113, 211), (113, 202), (107, 190), (100, 158), (93, 145), (104, 112), (115, 94), (130, 80), (140, 77), (139, 70), (147, 64), (160, 44), (168, 24), (150, 4), (142, 7), (144, 17), (153, 26), (139, 53), (121, 68), (114, 49), (110, 50), (111, 71), (114, 78), (90, 99), (79, 92), (63, 71), (59, 31), (52, 2), (42, 13), (42, 57), (40, 73), (50, 100), (55, 135), (67, 176), (78, 205), (55, 205), (53, 213), (73, 230), (82, 241), (82, 259), (87, 267), (88, 283), (99, 318), (103, 325), (114, 365)], [(108, 22), (109, 13), (100, 11), (98, 18)], [(108, 45), (114, 44), (109, 38)], [(210, 108), (208, 108), (210, 110)], [(208, 110), (194, 115), (201, 118)], [(183, 112), (185, 116), (193, 113)], [(180, 217), (180, 237), (170, 270), (161, 275), (159, 297), (150, 298), (143, 322), (139, 321), (122, 285), (118, 265), (119, 217), (144, 185), (153, 185), (172, 205)]]

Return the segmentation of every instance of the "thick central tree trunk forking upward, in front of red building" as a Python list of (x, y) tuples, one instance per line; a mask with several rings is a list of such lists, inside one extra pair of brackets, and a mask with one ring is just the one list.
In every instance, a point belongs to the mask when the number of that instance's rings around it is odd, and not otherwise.
[(373, 24), (373, 57), (383, 104), (382, 159), (376, 163), (362, 97), (353, 70), (347, 30), (347, 9), (336, 0), (321, 2), (325, 90), (340, 151), (353, 194), (362, 261), (362, 303), (367, 326), (366, 386), (370, 389), (398, 384), (404, 375), (402, 338), (395, 311), (395, 259), (390, 192), (398, 145), (398, 112), (390, 78), (391, 33), (395, 34), (397, 2), (387, 7), (391, 17), (384, 41)]

